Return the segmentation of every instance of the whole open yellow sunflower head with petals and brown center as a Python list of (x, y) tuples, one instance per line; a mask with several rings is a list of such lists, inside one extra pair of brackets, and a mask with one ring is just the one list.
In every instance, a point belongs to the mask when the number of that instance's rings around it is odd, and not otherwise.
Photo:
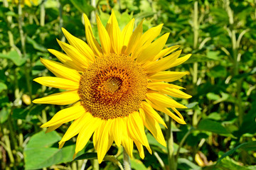
[(142, 33), (143, 21), (134, 29), (132, 19), (121, 31), (112, 11), (106, 27), (97, 16), (99, 44), (92, 35), (87, 16), (84, 18), (87, 43), (62, 28), (69, 44), (59, 40), (58, 44), (65, 54), (49, 50), (62, 63), (41, 59), (56, 77), (38, 77), (34, 81), (66, 91), (38, 98), (33, 103), (70, 105), (41, 128), (47, 127), (46, 132), (50, 132), (63, 123), (73, 121), (59, 147), (78, 135), (74, 157), (93, 135), (99, 163), (113, 142), (118, 147), (122, 145), (129, 157), (132, 157), (135, 143), (143, 159), (143, 146), (151, 153), (144, 127), (161, 145), (166, 146), (159, 123), (165, 127), (166, 124), (156, 111), (186, 124), (176, 109), (186, 106), (170, 96), (191, 96), (181, 91), (181, 86), (167, 83), (180, 79), (186, 73), (165, 70), (185, 62), (191, 55), (178, 58), (181, 54), (181, 50), (177, 50), (178, 45), (163, 49), (169, 33), (156, 39), (163, 24)]

